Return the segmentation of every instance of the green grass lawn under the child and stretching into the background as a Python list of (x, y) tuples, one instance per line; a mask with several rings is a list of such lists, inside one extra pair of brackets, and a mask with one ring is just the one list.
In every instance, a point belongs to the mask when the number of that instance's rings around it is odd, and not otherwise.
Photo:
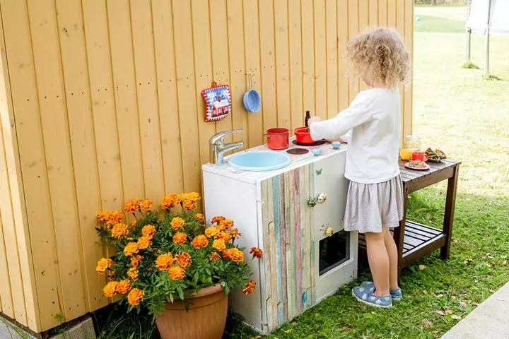
[[(451, 258), (435, 253), (404, 270), (405, 298), (393, 309), (353, 300), (351, 287), (369, 278), (363, 270), (358, 281), (260, 338), (440, 338), (509, 280), (509, 37), (491, 44), (491, 73), (503, 80), (485, 81), (482, 70), (462, 68), (466, 7), (418, 7), (416, 16), (414, 133), (462, 161)], [(483, 51), (483, 38), (474, 35), (474, 64), (483, 66)], [(444, 185), (414, 194), (409, 217), (439, 227), (444, 200)], [(425, 320), (433, 325), (423, 328)], [(257, 337), (238, 322), (227, 327), (226, 338)]]

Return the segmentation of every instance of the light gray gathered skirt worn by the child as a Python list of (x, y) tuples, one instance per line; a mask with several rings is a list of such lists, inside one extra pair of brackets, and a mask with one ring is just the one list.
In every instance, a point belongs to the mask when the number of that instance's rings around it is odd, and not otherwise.
[(346, 231), (382, 232), (398, 227), (403, 219), (403, 184), (398, 175), (387, 182), (359, 184), (350, 182), (346, 198)]

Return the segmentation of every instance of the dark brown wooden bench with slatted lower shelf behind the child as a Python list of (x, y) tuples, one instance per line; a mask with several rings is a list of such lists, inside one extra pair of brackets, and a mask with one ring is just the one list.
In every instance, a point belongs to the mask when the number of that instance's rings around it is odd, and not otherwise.
[[(428, 162), (431, 166), (427, 171), (406, 169), (405, 161), (399, 162), (403, 182), (403, 220), (399, 227), (391, 231), (398, 248), (398, 274), (406, 266), (440, 249), (440, 258), (448, 259), (452, 236), (452, 222), (454, 219), (455, 200), (458, 170), (460, 162), (455, 160), (443, 160), (443, 162)], [(406, 203), (409, 194), (423, 189), (424, 187), (447, 180), (447, 196), (445, 198), (445, 213), (442, 230), (406, 220)], [(359, 234), (359, 256), (366, 258), (365, 239)]]

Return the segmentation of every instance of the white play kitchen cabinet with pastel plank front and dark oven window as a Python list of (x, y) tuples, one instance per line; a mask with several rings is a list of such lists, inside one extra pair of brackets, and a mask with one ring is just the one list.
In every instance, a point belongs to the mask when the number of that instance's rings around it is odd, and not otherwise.
[[(245, 256), (257, 246), (261, 260), (250, 266), (257, 289), (233, 291), (230, 304), (245, 322), (269, 333), (357, 274), (357, 236), (343, 230), (348, 182), (345, 150), (323, 145), (322, 155), (300, 155), (285, 169), (242, 172), (204, 165), (206, 219), (225, 215), (242, 233)], [(309, 205), (310, 197), (327, 200)], [(327, 237), (327, 227), (334, 230)]]

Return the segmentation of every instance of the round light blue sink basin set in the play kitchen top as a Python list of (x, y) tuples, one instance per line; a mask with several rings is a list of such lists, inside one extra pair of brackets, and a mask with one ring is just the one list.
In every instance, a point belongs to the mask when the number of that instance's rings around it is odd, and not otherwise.
[(228, 165), (231, 167), (252, 172), (271, 171), (290, 164), (290, 157), (286, 153), (271, 152), (269, 150), (238, 153), (232, 155), (228, 160)]

